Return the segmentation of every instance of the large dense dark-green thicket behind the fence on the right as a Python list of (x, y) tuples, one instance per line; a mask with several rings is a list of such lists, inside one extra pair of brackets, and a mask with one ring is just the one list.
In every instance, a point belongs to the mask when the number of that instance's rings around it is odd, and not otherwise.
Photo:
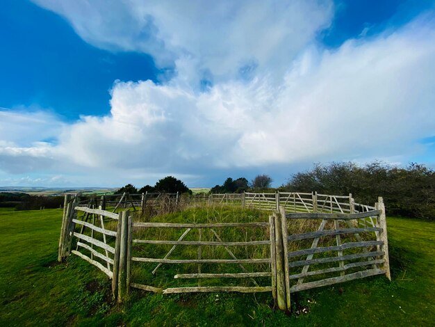
[(281, 186), (284, 191), (347, 195), (358, 203), (377, 202), (382, 196), (388, 214), (435, 219), (435, 172), (410, 163), (405, 168), (374, 161), (365, 166), (352, 162), (315, 163)]

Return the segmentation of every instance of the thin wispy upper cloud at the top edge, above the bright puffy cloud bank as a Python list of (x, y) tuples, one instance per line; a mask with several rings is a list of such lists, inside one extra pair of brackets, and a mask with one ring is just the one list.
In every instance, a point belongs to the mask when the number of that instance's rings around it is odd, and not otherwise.
[(92, 45), (151, 54), (161, 67), (176, 66), (179, 82), (190, 85), (249, 69), (274, 67), (276, 74), (333, 15), (330, 0), (35, 2)]

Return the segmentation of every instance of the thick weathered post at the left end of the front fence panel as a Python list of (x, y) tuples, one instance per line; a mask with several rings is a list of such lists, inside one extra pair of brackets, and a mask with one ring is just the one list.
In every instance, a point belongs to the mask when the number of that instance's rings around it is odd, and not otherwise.
[(120, 235), (120, 268), (118, 272), (118, 302), (124, 301), (127, 293), (127, 255), (129, 246), (129, 211), (122, 212)]

